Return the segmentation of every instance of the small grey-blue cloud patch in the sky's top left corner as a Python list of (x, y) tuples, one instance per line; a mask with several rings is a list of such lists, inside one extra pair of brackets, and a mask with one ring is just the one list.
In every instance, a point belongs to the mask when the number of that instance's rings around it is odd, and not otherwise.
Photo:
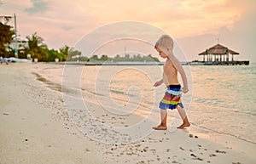
[(48, 4), (43, 0), (31, 0), (31, 2), (32, 7), (25, 9), (26, 13), (28, 14), (43, 13), (48, 8)]

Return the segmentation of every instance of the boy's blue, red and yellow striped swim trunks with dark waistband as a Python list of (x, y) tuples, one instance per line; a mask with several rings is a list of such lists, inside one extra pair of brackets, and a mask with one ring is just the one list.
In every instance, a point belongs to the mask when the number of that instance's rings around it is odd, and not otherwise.
[(182, 89), (180, 85), (167, 86), (165, 96), (160, 101), (160, 105), (159, 105), (160, 109), (174, 110), (177, 105), (180, 105), (183, 108), (181, 95), (182, 95)]

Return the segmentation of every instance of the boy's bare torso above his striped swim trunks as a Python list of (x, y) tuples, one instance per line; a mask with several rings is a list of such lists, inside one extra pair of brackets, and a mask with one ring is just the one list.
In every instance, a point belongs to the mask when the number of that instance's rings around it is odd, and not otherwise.
[(179, 84), (177, 80), (177, 70), (170, 59), (166, 59), (164, 65), (163, 81), (166, 86)]

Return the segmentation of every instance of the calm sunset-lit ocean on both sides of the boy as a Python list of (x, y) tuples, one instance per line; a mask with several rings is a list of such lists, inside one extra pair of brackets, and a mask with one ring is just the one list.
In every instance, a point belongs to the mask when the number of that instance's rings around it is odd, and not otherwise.
[[(135, 114), (145, 118), (154, 112), (160, 117), (158, 105), (166, 87), (154, 88), (153, 84), (160, 80), (162, 66), (73, 65), (73, 68), (82, 69), (79, 88), (84, 99), (102, 105), (116, 116)], [(255, 144), (256, 64), (183, 65), (183, 68), (189, 81), (183, 105), (192, 125)], [(44, 73), (49, 76), (49, 72), (52, 75), (60, 69), (61, 66), (55, 66)], [(63, 76), (67, 75), (64, 69)], [(172, 110), (168, 113), (172, 123), (177, 114)]]

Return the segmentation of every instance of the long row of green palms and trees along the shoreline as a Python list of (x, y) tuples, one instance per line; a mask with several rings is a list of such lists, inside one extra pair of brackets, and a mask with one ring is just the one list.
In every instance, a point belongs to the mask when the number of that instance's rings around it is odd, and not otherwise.
[[(0, 22), (0, 56), (2, 57), (15, 57), (15, 48), (11, 46), (14, 44), (15, 31), (13, 27)], [(26, 59), (28, 54), (32, 59), (38, 59), (38, 61), (50, 62), (59, 59), (59, 61), (90, 61), (90, 62), (117, 62), (117, 61), (159, 61), (151, 54), (148, 56), (141, 56), (141, 54), (133, 55), (125, 54), (121, 57), (117, 54), (115, 57), (110, 58), (107, 54), (102, 54), (99, 58), (96, 54), (90, 58), (85, 57), (80, 51), (70, 48), (67, 45), (55, 50), (49, 49), (44, 43), (44, 39), (38, 36), (35, 32), (32, 36), (26, 36), (26, 40), (18, 41), (18, 56), (20, 59)]]

